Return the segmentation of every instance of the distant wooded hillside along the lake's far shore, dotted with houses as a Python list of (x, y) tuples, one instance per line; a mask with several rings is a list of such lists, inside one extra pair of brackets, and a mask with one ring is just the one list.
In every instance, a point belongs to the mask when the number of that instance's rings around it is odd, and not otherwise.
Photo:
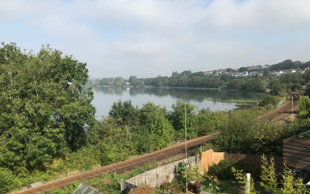
[[(171, 77), (157, 76), (156, 78), (137, 78), (130, 76), (129, 80), (124, 80), (122, 77), (103, 78), (94, 81), (89, 80), (92, 86), (155, 86), (155, 87), (198, 87), (198, 88), (227, 88), (238, 89), (246, 92), (265, 92), (270, 90), (271, 95), (279, 95), (285, 90), (301, 92), (303, 86), (308, 85), (310, 81), (310, 70), (306, 70), (304, 74), (287, 73), (280, 77), (271, 75), (273, 70), (296, 69), (310, 66), (309, 62), (300, 62), (285, 60), (281, 63), (270, 65), (268, 68), (256, 69), (263, 73), (263, 77), (233, 77), (232, 68), (227, 68), (224, 73), (216, 74), (216, 70), (212, 75), (205, 75), (204, 72), (194, 72), (190, 70), (178, 73), (173, 71)], [(255, 69), (254, 69), (255, 70)], [(248, 67), (240, 67), (239, 72), (254, 71)], [(226, 72), (226, 73), (225, 73)], [(310, 88), (306, 87), (306, 93), (310, 94)]]

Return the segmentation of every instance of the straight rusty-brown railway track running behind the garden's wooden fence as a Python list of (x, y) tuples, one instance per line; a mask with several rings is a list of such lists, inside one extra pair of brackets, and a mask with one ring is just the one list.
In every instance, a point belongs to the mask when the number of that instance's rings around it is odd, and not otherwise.
[[(197, 139), (187, 141), (187, 150), (193, 150), (212, 139), (213, 135), (203, 136)], [(42, 186), (33, 187), (30, 189), (24, 189), (21, 191), (16, 191), (14, 194), (47, 194), (50, 190), (56, 188), (62, 188), (64, 186), (71, 185), (74, 181), (84, 181), (95, 177), (100, 177), (103, 173), (118, 173), (123, 174), (133, 170), (135, 167), (142, 167), (150, 162), (163, 162), (167, 161), (169, 158), (173, 157), (184, 157), (185, 158), (185, 143), (180, 143), (175, 146), (167, 147), (150, 154), (140, 156), (135, 159), (127, 160), (124, 162), (119, 162), (111, 164), (109, 166), (104, 166), (95, 170), (79, 173), (70, 177), (58, 179), (55, 181), (50, 181)]]

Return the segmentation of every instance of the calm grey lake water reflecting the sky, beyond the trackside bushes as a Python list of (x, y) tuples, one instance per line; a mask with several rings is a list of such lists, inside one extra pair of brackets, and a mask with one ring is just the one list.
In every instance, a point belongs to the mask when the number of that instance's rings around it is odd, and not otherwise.
[(210, 90), (193, 88), (146, 88), (146, 87), (93, 87), (93, 106), (97, 109), (97, 119), (107, 116), (113, 102), (131, 100), (134, 106), (142, 107), (148, 101), (165, 106), (171, 111), (172, 104), (182, 100), (192, 103), (196, 110), (209, 108), (211, 111), (235, 109), (234, 103), (220, 102), (227, 99), (252, 99), (248, 93), (230, 90)]

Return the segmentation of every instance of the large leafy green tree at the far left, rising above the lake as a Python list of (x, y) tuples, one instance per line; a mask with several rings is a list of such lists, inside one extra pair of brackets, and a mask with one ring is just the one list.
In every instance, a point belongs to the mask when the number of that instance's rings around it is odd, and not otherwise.
[(0, 167), (44, 168), (85, 144), (95, 124), (93, 93), (83, 90), (86, 64), (42, 47), (23, 53), (0, 46)]

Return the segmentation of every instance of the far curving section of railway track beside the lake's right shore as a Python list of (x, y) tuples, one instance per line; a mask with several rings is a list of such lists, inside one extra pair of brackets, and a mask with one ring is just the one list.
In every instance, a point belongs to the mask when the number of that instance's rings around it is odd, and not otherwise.
[(275, 120), (286, 122), (294, 119), (294, 115), (299, 111), (298, 99), (299, 97), (303, 97), (303, 95), (292, 91), (287, 91), (286, 93), (288, 94), (290, 99), (287, 100), (278, 109), (259, 117), (260, 121)]

